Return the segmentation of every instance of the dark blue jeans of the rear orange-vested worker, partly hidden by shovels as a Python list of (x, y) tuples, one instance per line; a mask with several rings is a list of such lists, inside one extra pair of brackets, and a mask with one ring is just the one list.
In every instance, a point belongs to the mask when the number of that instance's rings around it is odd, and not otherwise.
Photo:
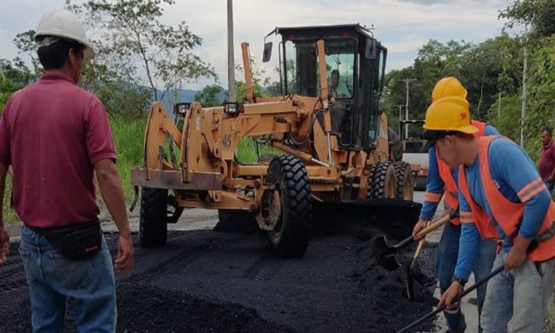
[[(443, 234), (438, 244), (436, 261), (436, 273), (439, 280), (439, 289), (443, 294), (451, 285), (451, 279), (456, 266), (456, 259), (459, 257), (459, 238), (461, 237), (461, 226), (447, 223), (443, 228)], [(490, 273), (495, 260), (495, 241), (481, 239), (479, 253), (477, 254), (475, 266), (472, 269), (475, 280), (481, 280)], [(486, 298), (486, 284), (479, 287), (476, 291), (478, 299), (478, 316), (481, 314), (484, 298)], [(460, 333), (466, 330), (464, 315), (459, 308), (458, 311), (444, 311), (447, 327), (452, 333)], [(481, 327), (478, 328), (481, 332)]]

